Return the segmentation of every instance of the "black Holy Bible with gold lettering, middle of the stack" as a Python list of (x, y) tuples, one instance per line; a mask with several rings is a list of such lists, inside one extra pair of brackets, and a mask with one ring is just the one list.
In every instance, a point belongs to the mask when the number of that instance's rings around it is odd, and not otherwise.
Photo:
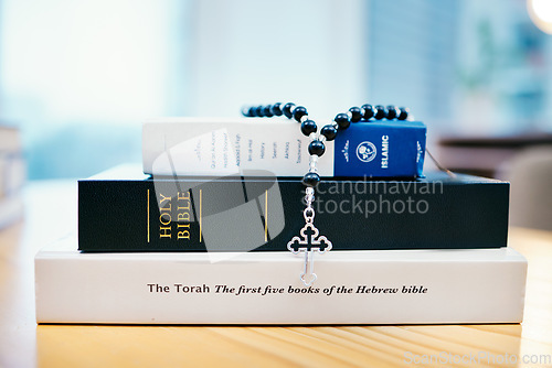
[[(283, 251), (305, 226), (304, 196), (300, 178), (151, 177), (119, 167), (78, 181), (78, 249)], [(326, 178), (314, 224), (333, 250), (500, 248), (508, 204), (509, 183), (470, 175)]]

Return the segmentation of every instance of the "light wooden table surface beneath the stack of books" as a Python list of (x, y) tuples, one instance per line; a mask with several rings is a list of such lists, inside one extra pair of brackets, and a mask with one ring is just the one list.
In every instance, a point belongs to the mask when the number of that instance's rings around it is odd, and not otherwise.
[[(36, 325), (33, 257), (76, 227), (76, 185), (31, 183), (24, 201), (24, 219), (0, 231), (0, 367), (445, 366), (413, 362), (424, 355), (466, 367), (552, 367), (552, 232), (510, 230), (509, 245), (529, 260), (521, 325)], [(469, 360), (478, 356), (490, 360)]]

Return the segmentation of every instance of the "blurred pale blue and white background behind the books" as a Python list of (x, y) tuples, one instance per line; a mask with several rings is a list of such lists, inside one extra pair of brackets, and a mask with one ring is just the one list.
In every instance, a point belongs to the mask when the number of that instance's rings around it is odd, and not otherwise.
[(552, 161), (546, 32), (551, 0), (0, 0), (3, 161), (85, 177), (139, 162), (149, 117), (370, 102), (410, 107), (450, 169), (524, 177), (520, 152)]

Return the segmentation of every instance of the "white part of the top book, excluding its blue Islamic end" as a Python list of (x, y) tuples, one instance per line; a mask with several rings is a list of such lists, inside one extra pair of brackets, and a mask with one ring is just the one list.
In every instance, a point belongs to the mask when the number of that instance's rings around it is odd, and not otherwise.
[[(310, 139), (286, 118), (162, 118), (142, 127), (144, 172), (155, 175), (302, 176)], [(333, 145), (318, 171), (333, 175)]]

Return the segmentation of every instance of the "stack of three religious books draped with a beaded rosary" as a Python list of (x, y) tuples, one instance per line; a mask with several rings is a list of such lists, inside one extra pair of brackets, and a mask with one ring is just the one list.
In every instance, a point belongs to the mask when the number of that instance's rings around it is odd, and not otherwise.
[[(35, 258), (38, 322), (521, 322), (527, 261), (507, 247), (508, 183), (442, 172), (413, 177), (425, 130), (412, 147), (402, 141), (411, 154), (396, 155), (391, 140), (386, 156), (376, 150), (371, 160), (403, 170), (394, 174), (401, 180), (337, 175), (337, 163), (354, 174), (358, 147), (391, 136), (385, 121), (375, 134), (374, 123), (351, 126), (320, 159), (327, 177), (317, 187), (315, 225), (332, 250), (315, 255), (317, 280), (307, 286), (305, 257), (287, 249), (305, 225), (305, 187), (294, 169), (284, 175), (286, 162), (306, 166), (308, 139), (297, 139), (293, 122), (255, 123), (149, 122), (142, 167), (79, 181), (77, 239)], [(418, 137), (421, 125), (408, 123)], [(294, 133), (282, 133), (290, 127)]]

